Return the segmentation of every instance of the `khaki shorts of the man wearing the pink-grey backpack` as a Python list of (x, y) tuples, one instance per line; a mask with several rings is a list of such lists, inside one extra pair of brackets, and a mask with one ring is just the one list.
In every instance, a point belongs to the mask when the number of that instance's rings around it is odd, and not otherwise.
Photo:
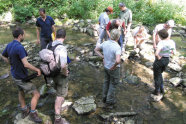
[(68, 78), (59, 74), (53, 78), (53, 81), (57, 96), (66, 97), (68, 94)]

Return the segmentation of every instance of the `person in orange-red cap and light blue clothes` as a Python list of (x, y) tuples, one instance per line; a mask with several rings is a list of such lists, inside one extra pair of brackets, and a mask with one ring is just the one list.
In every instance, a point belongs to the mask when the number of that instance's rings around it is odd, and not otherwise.
[(103, 39), (107, 40), (106, 26), (109, 23), (109, 15), (111, 13), (113, 13), (113, 8), (109, 6), (105, 9), (105, 12), (99, 16), (99, 39), (96, 46), (100, 45)]

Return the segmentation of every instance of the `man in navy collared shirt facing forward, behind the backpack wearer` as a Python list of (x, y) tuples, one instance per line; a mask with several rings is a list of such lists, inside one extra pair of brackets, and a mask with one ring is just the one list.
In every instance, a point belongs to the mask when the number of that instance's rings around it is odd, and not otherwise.
[(54, 20), (45, 14), (45, 9), (39, 9), (41, 17), (37, 18), (37, 44), (41, 44), (41, 49), (45, 49), (47, 44), (52, 41), (52, 32), (55, 33)]

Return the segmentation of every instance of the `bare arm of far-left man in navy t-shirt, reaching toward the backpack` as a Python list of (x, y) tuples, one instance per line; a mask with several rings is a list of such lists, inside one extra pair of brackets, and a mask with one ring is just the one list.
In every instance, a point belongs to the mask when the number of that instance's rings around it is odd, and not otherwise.
[(24, 65), (25, 68), (28, 68), (28, 69), (30, 69), (30, 70), (32, 70), (32, 71), (36, 71), (36, 72), (38, 73), (38, 76), (41, 75), (40, 69), (38, 69), (38, 68), (34, 67), (33, 65), (31, 65), (31, 64), (27, 61), (27, 58), (26, 58), (26, 57), (24, 57), (21, 61), (22, 61), (22, 63), (23, 63), (23, 65)]

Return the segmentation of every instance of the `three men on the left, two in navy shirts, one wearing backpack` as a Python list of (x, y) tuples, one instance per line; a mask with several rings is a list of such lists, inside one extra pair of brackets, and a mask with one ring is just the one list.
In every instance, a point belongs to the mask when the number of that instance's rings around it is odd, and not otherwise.
[[(54, 87), (56, 89), (56, 100), (55, 100), (55, 124), (68, 124), (65, 118), (61, 117), (61, 106), (65, 101), (65, 96), (68, 92), (68, 58), (67, 49), (63, 45), (66, 37), (66, 31), (64, 29), (58, 29), (55, 31), (54, 20), (52, 17), (47, 16), (45, 9), (39, 10), (40, 17), (36, 21), (36, 33), (37, 33), (37, 44), (40, 44), (41, 50), (46, 49), (48, 44), (51, 43), (52, 47), (58, 45), (54, 50), (55, 59), (60, 64), (60, 72), (52, 77), (54, 81)], [(54, 32), (55, 40), (52, 41), (51, 34)], [(20, 27), (15, 28), (12, 31), (14, 40), (10, 42), (2, 53), (2, 58), (11, 65), (11, 75), (15, 85), (19, 89), (19, 102), (21, 104), (22, 118), (29, 115), (29, 119), (36, 122), (42, 123), (42, 119), (38, 116), (36, 106), (40, 98), (36, 86), (30, 81), (25, 81), (28, 75), (28, 70), (37, 72), (37, 76), (41, 76), (42, 72), (39, 68), (34, 67), (27, 61), (27, 52), (21, 44), (24, 40), (24, 30)], [(31, 93), (31, 108), (25, 103), (25, 93)]]

